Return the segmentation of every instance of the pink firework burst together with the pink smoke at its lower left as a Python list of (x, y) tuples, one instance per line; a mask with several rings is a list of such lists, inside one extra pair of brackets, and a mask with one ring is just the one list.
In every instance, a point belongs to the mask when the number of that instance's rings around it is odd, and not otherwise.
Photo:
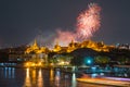
[(101, 26), (100, 12), (101, 8), (96, 3), (90, 3), (88, 10), (80, 13), (77, 17), (76, 30), (57, 30), (57, 37), (54, 42), (58, 41), (60, 45), (66, 46), (70, 40), (81, 41), (90, 39), (93, 36), (93, 33), (95, 33)]

